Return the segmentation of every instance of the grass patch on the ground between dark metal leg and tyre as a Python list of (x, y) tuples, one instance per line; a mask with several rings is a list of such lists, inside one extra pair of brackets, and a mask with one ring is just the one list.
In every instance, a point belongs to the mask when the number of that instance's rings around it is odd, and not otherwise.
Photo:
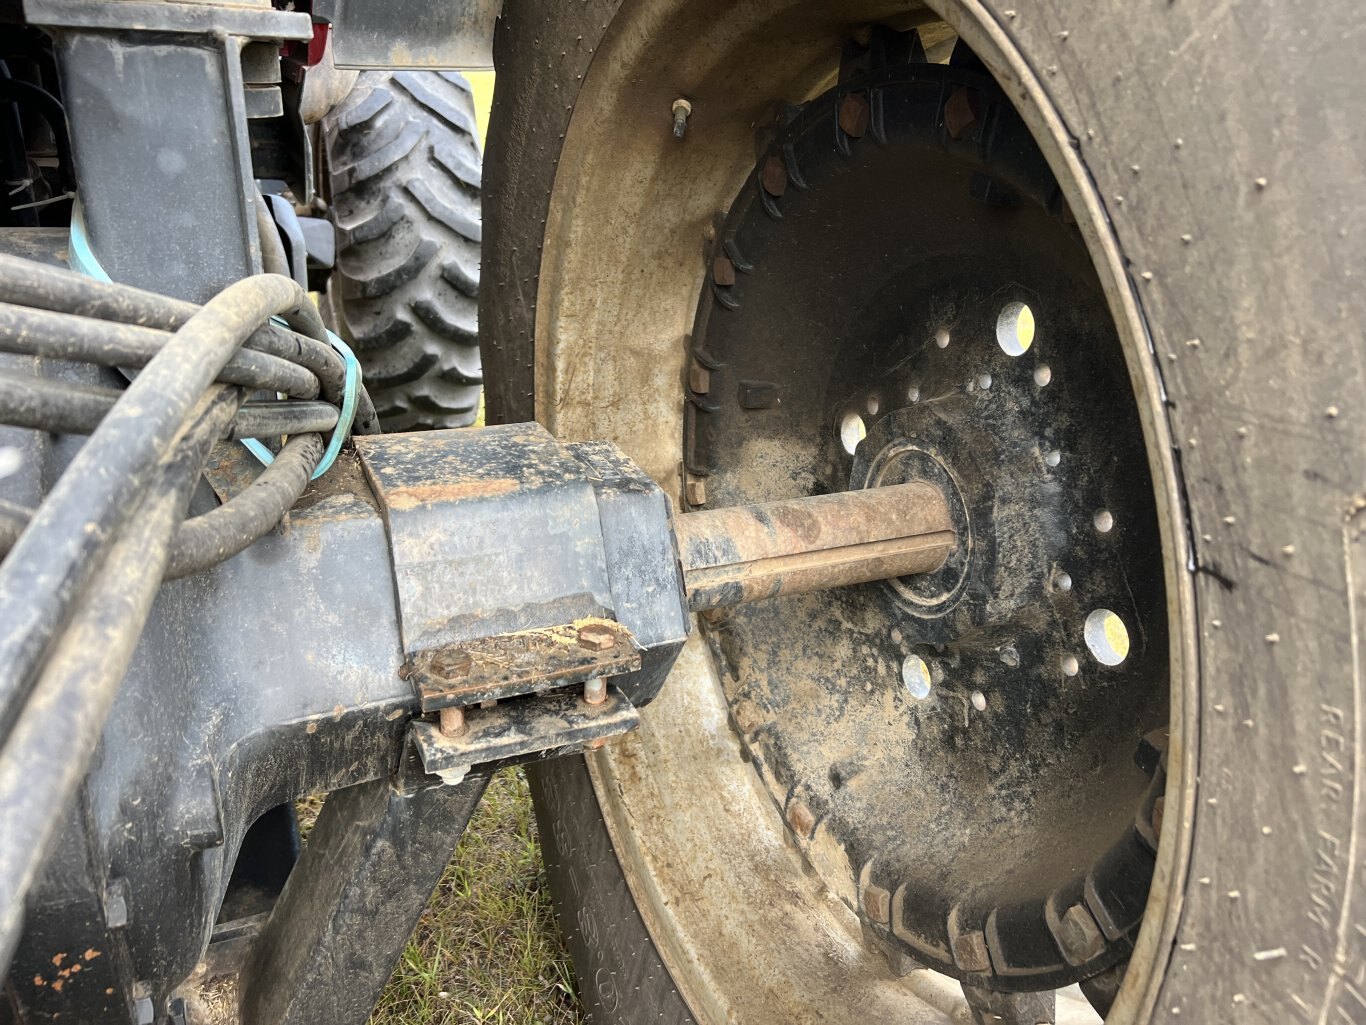
[(579, 1025), (520, 769), (493, 776), (370, 1025)]

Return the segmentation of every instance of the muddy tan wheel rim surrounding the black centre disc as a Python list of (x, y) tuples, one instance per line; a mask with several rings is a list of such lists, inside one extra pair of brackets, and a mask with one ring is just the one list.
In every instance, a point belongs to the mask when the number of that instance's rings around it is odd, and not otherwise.
[[(676, 470), (679, 458), (676, 441), (669, 444), (661, 439), (669, 437), (669, 424), (679, 425), (682, 432), (682, 405), (678, 400), (676, 381), (684, 377), (683, 357), (687, 348), (683, 339), (693, 321), (688, 292), (695, 295), (701, 287), (699, 242), (709, 230), (714, 230), (717, 209), (729, 204), (753, 167), (749, 124), (755, 120), (754, 113), (762, 105), (762, 98), (772, 96), (800, 98), (818, 92), (820, 86), (828, 82), (832, 68), (828, 57), (814, 52), (816, 44), (811, 40), (839, 38), (847, 33), (852, 19), (851, 14), (843, 11), (831, 16), (814, 5), (776, 3), (755, 5), (743, 14), (729, 10), (719, 10), (714, 14), (716, 20), (709, 22), (698, 16), (695, 4), (688, 8), (688, 16), (683, 20), (693, 26), (690, 31), (694, 33), (694, 38), (682, 48), (676, 45), (679, 36), (676, 33), (671, 36), (671, 31), (682, 25), (680, 20), (673, 20), (682, 18), (679, 11), (658, 4), (641, 4), (627, 8), (620, 15), (623, 19), (620, 26), (613, 26), (620, 30), (613, 31), (612, 40), (605, 44), (611, 53), (604, 53), (602, 59), (596, 62), (576, 105), (575, 120), (561, 157), (561, 171), (568, 174), (561, 174), (557, 180), (540, 283), (538, 338), (548, 342), (538, 351), (540, 368), (544, 370), (538, 392), (542, 418), (553, 429), (568, 436), (596, 435), (617, 440), (657, 478), (673, 488), (679, 488), (680, 484)], [(869, 10), (869, 20), (876, 20), (880, 14)], [(1012, 67), (1009, 55), (996, 45), (1000, 40), (993, 44), (992, 26), (978, 18), (979, 12), (953, 5), (943, 14), (964, 37), (974, 34), (981, 37), (973, 40), (974, 45), (999, 78), (1026, 92), (1033, 87), (1019, 74), (1020, 62), (1016, 60)], [(702, 36), (695, 34), (698, 23), (709, 26)], [(933, 42), (934, 30), (928, 31), (925, 37)], [(665, 56), (661, 49), (652, 48), (647, 42), (650, 38), (672, 38), (675, 52)], [(746, 60), (739, 56), (742, 53), (749, 55), (744, 74), (736, 70), (736, 62)], [(775, 56), (779, 53), (781, 56)], [(642, 75), (645, 68), (649, 71)], [(755, 82), (761, 71), (768, 72), (769, 78), (765, 82)], [(738, 86), (740, 79), (744, 82)], [(669, 149), (671, 141), (667, 139), (656, 146), (649, 127), (632, 123), (632, 118), (637, 116), (632, 113), (634, 109), (650, 108), (650, 98), (642, 94), (641, 87), (632, 86), (635, 92), (631, 93), (628, 107), (616, 98), (620, 96), (617, 90), (632, 81), (645, 82), (645, 94), (657, 90), (656, 105), (665, 112), (675, 90), (679, 89), (678, 82), (698, 83), (697, 89), (687, 92), (690, 98), (694, 98), (695, 111), (690, 131), (709, 133), (705, 157), (699, 149), (690, 149), (691, 141), (682, 150)], [(708, 89), (713, 92), (708, 93)], [(708, 123), (709, 116), (714, 118), (714, 122)], [(1046, 109), (1035, 107), (1031, 128), (1045, 144), (1050, 127), (1046, 122)], [(635, 141), (627, 142), (628, 138)], [(1059, 133), (1053, 137), (1052, 145), (1044, 145), (1045, 154), (1055, 168), (1060, 161), (1072, 159), (1057, 145), (1060, 138)], [(616, 167), (611, 168), (608, 161)], [(630, 165), (628, 174), (622, 171), (623, 164)], [(649, 168), (649, 172), (642, 174), (642, 168)], [(586, 180), (590, 176), (593, 180), (607, 183), (604, 191), (612, 194), (615, 212), (602, 209), (602, 204), (594, 205), (582, 194), (574, 194), (567, 184), (570, 180)], [(1171, 466), (1165, 465), (1161, 456), (1161, 446), (1156, 448), (1153, 446), (1154, 436), (1157, 439), (1162, 436), (1162, 424), (1156, 402), (1150, 400), (1156, 396), (1152, 368), (1135, 344), (1141, 342), (1142, 335), (1141, 328), (1135, 327), (1138, 321), (1132, 295), (1119, 269), (1112, 242), (1106, 249), (1106, 239), (1096, 228), (1098, 205), (1094, 197), (1078, 190), (1076, 174), (1064, 175), (1060, 180), (1071, 208), (1078, 213), (1078, 227), (1100, 271), (1111, 313), (1117, 313), (1115, 321), (1126, 343), (1126, 354), (1130, 357), (1130, 373), (1138, 380), (1139, 394), (1149, 396), (1139, 402), (1139, 410), (1149, 440), (1149, 463), (1154, 477), (1161, 481), (1156, 489), (1158, 507), (1165, 510), (1173, 504)], [(612, 183), (620, 189), (612, 189)], [(679, 241), (680, 235), (686, 238)], [(604, 256), (601, 241), (620, 238), (632, 239), (630, 251)], [(598, 245), (594, 246), (594, 242)], [(682, 287), (679, 280), (683, 282)], [(615, 282), (623, 286), (620, 292), (623, 297), (632, 292), (634, 295), (615, 301), (608, 309), (589, 309), (576, 298), (589, 294), (586, 290), (589, 282), (594, 282), (600, 292), (604, 282)], [(622, 343), (620, 348), (611, 350), (611, 357), (607, 346), (602, 350), (594, 348), (594, 339), (609, 338)], [(571, 380), (572, 388), (568, 387)], [(593, 381), (593, 400), (579, 398), (589, 392), (586, 381)], [(652, 428), (649, 436), (642, 436), (639, 429), (642, 420), (657, 425)], [(672, 439), (678, 436), (679, 433), (673, 433)], [(1152, 455), (1154, 451), (1157, 456)], [(1168, 569), (1168, 599), (1173, 610), (1172, 622), (1184, 623), (1187, 620), (1180, 612), (1183, 603), (1188, 601), (1186, 584), (1179, 574), (1171, 573), (1172, 567), (1180, 566), (1183, 560), (1180, 537), (1179, 532), (1171, 528), (1171, 517), (1161, 519), (1161, 530), (1164, 564)], [(1182, 626), (1182, 630), (1186, 627)], [(1180, 656), (1188, 644), (1188, 637), (1179, 633), (1177, 640), (1180, 644), (1173, 645), (1173, 649)], [(703, 948), (716, 951), (721, 947), (716, 946), (714, 935), (708, 938), (705, 928), (697, 922), (683, 921), (688, 916), (680, 907), (679, 895), (690, 887), (702, 886), (701, 880), (706, 877), (706, 871), (702, 869), (708, 869), (708, 865), (703, 860), (698, 873), (678, 868), (673, 856), (688, 846), (688, 838), (684, 836), (686, 830), (673, 827), (678, 825), (678, 820), (686, 821), (690, 817), (686, 810), (687, 802), (682, 800), (684, 793), (716, 793), (720, 789), (728, 794), (728, 804), (736, 808), (736, 816), (746, 821), (749, 832), (755, 832), (764, 820), (762, 842), (755, 840), (750, 847), (758, 849), (746, 850), (743, 854), (761, 868), (738, 886), (740, 888), (746, 884), (772, 886), (772, 876), (779, 872), (795, 876), (798, 883), (790, 886), (788, 892), (802, 887), (810, 890), (802, 899), (794, 898), (803, 914), (825, 916), (821, 928), (813, 931), (821, 935), (811, 940), (811, 950), (820, 948), (824, 942), (825, 953), (829, 955), (837, 947), (844, 965), (859, 965), (867, 976), (869, 988), (865, 996), (877, 984), (887, 983), (899, 987), (889, 991), (888, 999), (902, 999), (904, 1004), (906, 981), (897, 983), (892, 979), (880, 958), (865, 955), (856, 936), (858, 922), (847, 912), (829, 907), (831, 901), (818, 886), (820, 880), (813, 875), (802, 875), (802, 860), (795, 858), (791, 849), (781, 846), (781, 817), (772, 808), (768, 794), (757, 786), (754, 774), (739, 761), (742, 752), (738, 750), (734, 734), (724, 720), (724, 707), (720, 700), (723, 687), (709, 661), (701, 651), (693, 651), (671, 681), (663, 704), (646, 713), (645, 737), (639, 742), (600, 756), (593, 764), (604, 813), (609, 827), (613, 828), (632, 891), (646, 918), (650, 920), (652, 932), (665, 939), (683, 936), (672, 950), (668, 948), (668, 943), (663, 944), (661, 954), (665, 962), (684, 988), (691, 1006), (706, 1017), (721, 1020), (727, 1013), (738, 1013), (744, 1021), (766, 1021), (780, 1020), (791, 1007), (810, 1007), (810, 1002), (806, 1002), (783, 1009), (781, 1002), (772, 1000), (755, 1000), (744, 1006), (742, 998), (731, 992), (735, 989), (734, 980), (727, 987), (724, 979), (717, 979), (714, 965), (699, 964), (705, 959)], [(1173, 690), (1179, 694), (1173, 715), (1176, 730), (1172, 748), (1173, 790), (1182, 786), (1184, 767), (1191, 756), (1188, 748), (1182, 743), (1184, 702), (1190, 696), (1182, 686), (1183, 664), (1177, 660), (1172, 674), (1177, 682)], [(702, 739), (698, 748), (679, 748), (688, 737), (699, 734)], [(680, 750), (686, 750), (688, 757), (671, 760)], [(724, 763), (725, 771), (717, 768), (717, 774), (709, 775), (702, 783), (697, 779), (687, 782), (688, 769), (697, 776), (695, 767), (702, 757), (712, 758), (717, 765)], [(747, 778), (727, 775), (735, 767), (740, 767)], [(746, 789), (754, 793), (740, 801), (738, 795)], [(1184, 790), (1177, 793), (1184, 794)], [(1182, 800), (1184, 801), (1184, 797)], [(673, 821), (667, 821), (671, 816)], [(695, 815), (691, 817), (695, 819)], [(1139, 938), (1141, 950), (1160, 946), (1160, 940), (1154, 943), (1154, 936), (1160, 936), (1164, 925), (1175, 922), (1171, 905), (1162, 902), (1161, 897), (1171, 887), (1173, 869), (1179, 875), (1179, 858), (1173, 858), (1172, 851), (1184, 850), (1187, 817), (1171, 813), (1167, 817), (1162, 845), (1167, 857), (1165, 861), (1158, 860), (1160, 886), (1154, 888), (1153, 897), (1154, 906), (1161, 903), (1161, 913), (1149, 912), (1150, 924)], [(1173, 819), (1177, 820), (1175, 827), (1171, 824)], [(697, 839), (695, 834), (691, 839)], [(734, 831), (713, 839), (717, 843), (739, 843)], [(810, 854), (809, 861), (820, 872), (826, 876), (837, 875), (829, 865), (822, 865), (825, 856), (821, 851)], [(695, 854), (690, 857), (695, 860)], [(664, 866), (671, 861), (675, 869), (665, 871)], [(723, 869), (724, 865), (717, 864), (710, 868)], [(714, 880), (709, 886), (714, 890)], [(724, 899), (727, 894), (720, 897)], [(855, 906), (859, 905), (855, 902)], [(735, 925), (735, 920), (731, 925)], [(773, 922), (751, 921), (746, 925), (749, 927), (772, 928)], [(840, 939), (832, 947), (831, 936), (836, 929), (841, 929), (852, 939), (847, 943), (846, 939)], [(1145, 955), (1142, 970), (1131, 972), (1128, 991), (1132, 996), (1128, 1003), (1121, 999), (1112, 1020), (1132, 1014), (1150, 996), (1146, 980), (1135, 981), (1135, 976), (1152, 976), (1154, 965), (1157, 962)], [(915, 980), (922, 974), (925, 973), (912, 973), (911, 979)], [(1160, 976), (1160, 966), (1157, 974)], [(753, 972), (746, 974), (750, 983), (754, 977)], [(806, 972), (803, 979), (809, 987), (807, 995), (820, 988), (811, 981), (810, 972)], [(847, 988), (848, 973), (841, 972), (841, 979)], [(831, 992), (836, 989), (837, 987), (832, 985)], [(866, 996), (866, 999), (873, 998)], [(892, 1003), (887, 1006), (891, 1007)], [(937, 1013), (932, 1014), (930, 1007), (925, 1009), (925, 1014), (930, 1015), (925, 1017), (926, 1021), (937, 1020), (934, 1017)]]

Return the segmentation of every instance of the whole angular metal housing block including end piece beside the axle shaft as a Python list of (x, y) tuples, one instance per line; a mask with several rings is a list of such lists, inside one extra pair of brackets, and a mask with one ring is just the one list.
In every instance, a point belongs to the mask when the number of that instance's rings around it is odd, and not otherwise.
[[(664, 492), (619, 450), (563, 446), (535, 424), (357, 439), (384, 512), (403, 649), (426, 652), (613, 620), (658, 693), (688, 631)], [(438, 670), (444, 672), (444, 670)]]

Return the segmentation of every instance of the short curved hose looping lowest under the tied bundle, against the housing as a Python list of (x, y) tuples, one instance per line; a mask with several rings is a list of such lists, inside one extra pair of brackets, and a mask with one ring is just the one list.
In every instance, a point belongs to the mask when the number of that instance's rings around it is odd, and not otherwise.
[(216, 566), (275, 530), (309, 487), (309, 477), (322, 459), (322, 448), (318, 435), (291, 437), (275, 462), (240, 493), (184, 521), (171, 543), (165, 578), (179, 579)]

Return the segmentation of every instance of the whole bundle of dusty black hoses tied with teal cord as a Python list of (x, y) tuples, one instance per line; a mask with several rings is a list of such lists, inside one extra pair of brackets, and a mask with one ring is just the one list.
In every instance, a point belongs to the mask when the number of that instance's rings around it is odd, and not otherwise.
[[(36, 510), (0, 502), (0, 836), (23, 840), (0, 845), (0, 970), (161, 581), (275, 529), (339, 430), (377, 429), (354, 362), (326, 338), (284, 276), (195, 306), (0, 256), (0, 353), (36, 370), (0, 370), (0, 422), (89, 435)], [(44, 359), (131, 383), (56, 380), (37, 373)], [(186, 519), (212, 447), (243, 437), (288, 440), (251, 484)]]

